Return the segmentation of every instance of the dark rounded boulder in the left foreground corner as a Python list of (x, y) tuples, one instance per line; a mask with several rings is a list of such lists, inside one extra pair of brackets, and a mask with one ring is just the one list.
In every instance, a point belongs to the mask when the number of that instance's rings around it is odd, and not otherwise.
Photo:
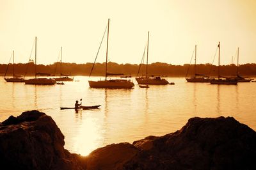
[(6, 169), (83, 169), (64, 149), (64, 136), (50, 116), (23, 112), (0, 126), (0, 163)]

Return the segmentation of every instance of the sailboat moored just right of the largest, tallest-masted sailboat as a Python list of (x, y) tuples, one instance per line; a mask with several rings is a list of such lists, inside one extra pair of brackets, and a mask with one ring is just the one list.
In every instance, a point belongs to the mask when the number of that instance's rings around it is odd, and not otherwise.
[[(149, 31), (148, 31), (148, 41), (149, 41)], [(162, 79), (160, 76), (157, 77), (148, 77), (148, 42), (147, 42), (147, 65), (146, 65), (146, 76), (145, 77), (136, 77), (135, 78), (138, 84), (154, 84), (154, 85), (165, 85), (169, 84), (166, 79)]]

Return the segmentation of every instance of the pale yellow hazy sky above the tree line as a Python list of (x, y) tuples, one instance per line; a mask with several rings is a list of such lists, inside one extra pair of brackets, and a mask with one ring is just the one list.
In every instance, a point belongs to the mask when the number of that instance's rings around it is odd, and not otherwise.
[(149, 31), (148, 63), (184, 65), (195, 45), (196, 63), (212, 63), (218, 42), (221, 65), (238, 47), (239, 64), (256, 63), (255, 16), (255, 0), (0, 0), (0, 63), (12, 50), (15, 63), (27, 63), (35, 36), (37, 64), (58, 61), (61, 47), (63, 62), (93, 63), (108, 19), (111, 62), (140, 64)]

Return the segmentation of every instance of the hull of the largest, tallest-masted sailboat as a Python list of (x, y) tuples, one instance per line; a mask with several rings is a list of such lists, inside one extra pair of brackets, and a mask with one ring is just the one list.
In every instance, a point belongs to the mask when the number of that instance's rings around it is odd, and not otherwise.
[(109, 80), (109, 81), (88, 81), (90, 88), (111, 88), (111, 89), (131, 89), (134, 83), (129, 80)]

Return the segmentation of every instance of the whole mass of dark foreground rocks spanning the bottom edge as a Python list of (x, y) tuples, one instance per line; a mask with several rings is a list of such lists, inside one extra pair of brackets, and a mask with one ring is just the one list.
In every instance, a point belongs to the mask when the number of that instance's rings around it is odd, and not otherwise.
[(23, 112), (0, 124), (8, 169), (255, 169), (256, 132), (234, 118), (191, 118), (175, 133), (110, 144), (87, 157), (64, 149), (51, 117)]

